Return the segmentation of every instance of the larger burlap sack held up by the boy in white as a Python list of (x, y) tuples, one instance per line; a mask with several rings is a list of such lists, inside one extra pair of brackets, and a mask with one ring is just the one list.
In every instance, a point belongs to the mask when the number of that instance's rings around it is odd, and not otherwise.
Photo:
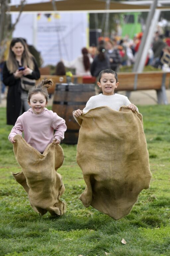
[(77, 163), (86, 182), (80, 200), (120, 219), (151, 179), (142, 115), (126, 107), (99, 107), (77, 120)]

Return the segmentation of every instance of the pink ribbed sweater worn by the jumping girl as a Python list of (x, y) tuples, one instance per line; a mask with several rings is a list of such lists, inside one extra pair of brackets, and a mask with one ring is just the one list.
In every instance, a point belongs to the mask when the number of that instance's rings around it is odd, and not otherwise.
[(27, 143), (42, 153), (53, 139), (64, 139), (66, 129), (65, 120), (53, 111), (44, 108), (42, 113), (37, 115), (30, 108), (18, 117), (8, 139), (24, 132)]

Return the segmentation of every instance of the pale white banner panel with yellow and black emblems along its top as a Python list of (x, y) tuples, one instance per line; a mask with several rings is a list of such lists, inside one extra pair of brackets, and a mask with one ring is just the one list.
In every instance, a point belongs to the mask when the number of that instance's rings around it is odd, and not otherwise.
[(37, 25), (37, 48), (45, 64), (56, 64), (60, 59), (73, 60), (87, 46), (87, 14), (44, 14)]

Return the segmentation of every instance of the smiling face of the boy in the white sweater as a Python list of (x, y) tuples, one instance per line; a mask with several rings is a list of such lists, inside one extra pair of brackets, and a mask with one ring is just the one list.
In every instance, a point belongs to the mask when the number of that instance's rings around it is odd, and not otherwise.
[(102, 88), (103, 95), (113, 95), (115, 88), (118, 87), (119, 82), (116, 82), (115, 75), (112, 73), (103, 73), (98, 86)]

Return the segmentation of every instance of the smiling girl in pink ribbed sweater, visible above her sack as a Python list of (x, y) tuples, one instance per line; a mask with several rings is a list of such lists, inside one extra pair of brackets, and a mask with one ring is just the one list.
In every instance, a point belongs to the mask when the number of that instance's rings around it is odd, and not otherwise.
[(43, 153), (52, 141), (59, 144), (64, 139), (64, 132), (67, 129), (65, 120), (46, 108), (47, 88), (51, 85), (52, 81), (42, 80), (29, 91), (28, 104), (31, 108), (18, 117), (8, 137), (11, 143), (15, 143), (14, 136), (16, 134), (22, 136), (22, 132), (24, 132), (26, 142)]

